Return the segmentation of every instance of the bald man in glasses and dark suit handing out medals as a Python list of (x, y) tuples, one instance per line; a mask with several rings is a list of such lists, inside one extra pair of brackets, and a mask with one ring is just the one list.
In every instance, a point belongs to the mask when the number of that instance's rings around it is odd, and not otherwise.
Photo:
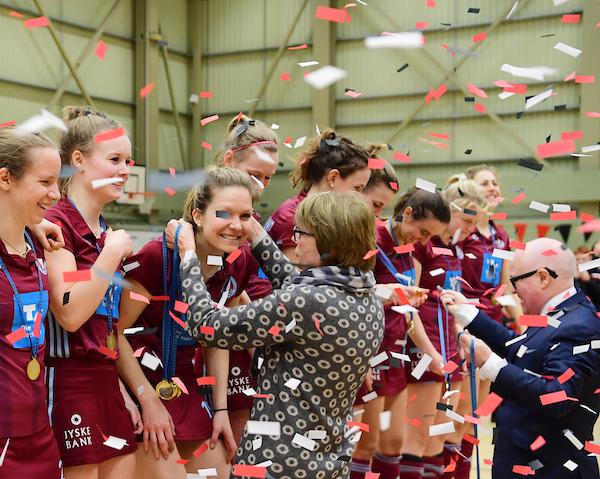
[(474, 340), (480, 377), (492, 380), (503, 399), (492, 477), (598, 479), (596, 457), (588, 453), (600, 450), (589, 444), (600, 409), (600, 318), (573, 287), (575, 256), (539, 238), (515, 252), (510, 270), (523, 312), (547, 326), (517, 337), (460, 293), (442, 293), (457, 324), (473, 335), (461, 334), (461, 346), (468, 351)]

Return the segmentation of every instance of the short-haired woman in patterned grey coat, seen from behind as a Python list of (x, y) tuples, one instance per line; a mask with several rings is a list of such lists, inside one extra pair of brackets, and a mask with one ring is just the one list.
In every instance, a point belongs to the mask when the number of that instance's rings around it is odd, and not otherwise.
[(352, 405), (384, 326), (374, 294), (375, 257), (367, 254), (376, 248), (375, 220), (364, 199), (354, 192), (318, 193), (300, 204), (294, 240), (301, 272), (256, 220), (241, 225), (274, 291), (236, 308), (215, 307), (191, 225), (172, 220), (168, 235), (179, 224), (192, 336), (205, 347), (264, 349), (259, 396), (234, 474), (246, 475), (243, 464), (266, 467), (267, 477), (277, 479), (349, 477)]

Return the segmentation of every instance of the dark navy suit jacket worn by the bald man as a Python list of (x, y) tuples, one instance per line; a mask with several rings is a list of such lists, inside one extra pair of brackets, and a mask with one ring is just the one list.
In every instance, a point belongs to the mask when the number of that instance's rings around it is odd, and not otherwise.
[[(591, 341), (600, 339), (600, 318), (581, 291), (550, 315), (561, 322), (558, 328), (531, 327), (524, 340), (510, 346), (505, 343), (516, 337), (514, 331), (483, 312), (467, 326), (508, 361), (492, 385), (492, 391), (504, 399), (496, 410), (494, 479), (522, 479), (524, 476), (512, 472), (513, 465), (526, 466), (536, 460), (539, 463), (534, 463), (534, 469), (543, 464), (536, 470), (536, 478), (600, 479), (596, 457), (588, 456), (585, 449), (578, 450), (563, 432), (569, 429), (584, 445), (593, 440), (598, 416), (583, 406), (595, 412), (600, 409), (600, 394), (596, 393), (600, 388), (600, 349), (591, 347)], [(590, 349), (574, 355), (573, 347), (584, 344)], [(518, 357), (522, 345), (527, 352)], [(560, 384), (556, 378), (569, 368), (575, 375)], [(540, 395), (561, 390), (576, 400), (541, 404)], [(538, 436), (546, 444), (531, 451), (529, 446)], [(578, 464), (573, 472), (563, 466), (568, 460)]]

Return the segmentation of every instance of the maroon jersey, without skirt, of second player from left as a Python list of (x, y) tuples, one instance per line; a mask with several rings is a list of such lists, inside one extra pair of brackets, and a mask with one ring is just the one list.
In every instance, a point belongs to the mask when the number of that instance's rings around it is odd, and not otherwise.
[[(92, 230), (68, 198), (61, 198), (46, 214), (46, 219), (58, 224), (65, 239), (65, 249), (73, 253), (78, 270), (90, 269), (104, 246), (105, 234), (97, 239)], [(101, 218), (101, 223), (104, 218)], [(104, 224), (106, 224), (104, 222)], [(119, 299), (121, 287), (114, 286), (112, 298), (113, 330), (119, 318)], [(70, 333), (63, 329), (59, 322), (49, 315), (48, 320), (48, 354), (51, 358), (89, 358), (106, 359), (99, 351), (106, 347), (109, 334), (107, 295), (98, 305), (96, 312), (77, 331)]]

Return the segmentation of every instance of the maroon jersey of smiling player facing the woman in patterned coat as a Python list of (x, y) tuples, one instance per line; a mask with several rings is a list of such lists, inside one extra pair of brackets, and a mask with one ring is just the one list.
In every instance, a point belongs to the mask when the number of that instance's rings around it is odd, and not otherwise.
[[(139, 266), (127, 273), (127, 279), (133, 279), (140, 283), (152, 296), (168, 294), (163, 292), (163, 258), (162, 238), (156, 238), (148, 242), (136, 255), (127, 259), (128, 264), (139, 263)], [(217, 271), (207, 282), (208, 290), (214, 301), (219, 301), (227, 289), (227, 300), (225, 305), (238, 296), (248, 285), (252, 274), (252, 265), (255, 265), (254, 257), (247, 246), (242, 247), (242, 254), (232, 263), (223, 261), (223, 268)], [(168, 265), (170, 272), (170, 265)], [(129, 336), (129, 342), (134, 349), (145, 346), (148, 352), (154, 352), (162, 358), (162, 319), (163, 301), (151, 301), (144, 309), (136, 322), (136, 326), (144, 328), (158, 328), (154, 334), (142, 334)], [(180, 346), (177, 348), (176, 371), (179, 367), (189, 366), (194, 358), (195, 345)], [(156, 384), (162, 379), (161, 370), (145, 370), (148, 380)]]

